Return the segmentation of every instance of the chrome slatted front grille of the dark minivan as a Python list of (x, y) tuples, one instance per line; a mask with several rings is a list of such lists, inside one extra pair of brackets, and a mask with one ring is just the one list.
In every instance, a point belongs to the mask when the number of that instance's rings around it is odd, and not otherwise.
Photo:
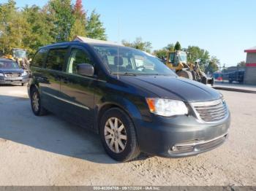
[(195, 108), (197, 117), (205, 122), (216, 122), (224, 119), (227, 116), (227, 106), (225, 101), (207, 101), (192, 103)]

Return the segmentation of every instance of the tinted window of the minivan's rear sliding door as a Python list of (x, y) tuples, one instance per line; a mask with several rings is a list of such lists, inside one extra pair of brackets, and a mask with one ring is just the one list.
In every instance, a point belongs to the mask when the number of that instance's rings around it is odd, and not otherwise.
[(49, 50), (46, 69), (62, 71), (64, 68), (66, 53), (67, 48)]

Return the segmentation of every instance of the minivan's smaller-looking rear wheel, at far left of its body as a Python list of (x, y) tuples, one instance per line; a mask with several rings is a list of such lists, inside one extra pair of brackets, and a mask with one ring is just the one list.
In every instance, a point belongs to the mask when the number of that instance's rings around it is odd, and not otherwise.
[(31, 90), (31, 108), (35, 115), (42, 116), (46, 114), (46, 110), (42, 107), (41, 98), (36, 88)]

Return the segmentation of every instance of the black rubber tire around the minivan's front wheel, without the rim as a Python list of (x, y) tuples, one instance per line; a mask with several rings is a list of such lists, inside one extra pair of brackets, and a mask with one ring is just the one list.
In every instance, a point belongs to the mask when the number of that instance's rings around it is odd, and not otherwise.
[[(110, 143), (107, 144), (107, 141), (105, 140), (105, 125), (107, 125), (108, 120), (113, 118), (120, 120), (120, 122), (124, 125), (125, 133), (127, 135), (125, 147), (119, 153), (113, 152), (113, 150), (110, 149), (110, 146), (108, 146)], [(140, 155), (140, 148), (137, 141), (135, 126), (133, 125), (133, 122), (129, 116), (121, 109), (112, 108), (103, 114), (100, 120), (99, 134), (105, 152), (107, 152), (107, 154), (114, 160), (127, 162), (129, 160), (135, 159), (138, 157), (138, 155)], [(111, 138), (111, 140), (112, 139), (113, 138)], [(116, 146), (116, 143), (113, 143), (113, 145)], [(118, 148), (121, 149), (121, 147)]]

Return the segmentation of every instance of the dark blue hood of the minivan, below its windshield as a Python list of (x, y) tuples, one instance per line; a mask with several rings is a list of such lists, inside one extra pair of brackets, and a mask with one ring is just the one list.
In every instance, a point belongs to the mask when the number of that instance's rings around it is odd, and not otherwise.
[(135, 85), (159, 98), (171, 98), (186, 102), (212, 101), (221, 98), (221, 94), (200, 82), (180, 77), (166, 76), (121, 76), (121, 81)]

